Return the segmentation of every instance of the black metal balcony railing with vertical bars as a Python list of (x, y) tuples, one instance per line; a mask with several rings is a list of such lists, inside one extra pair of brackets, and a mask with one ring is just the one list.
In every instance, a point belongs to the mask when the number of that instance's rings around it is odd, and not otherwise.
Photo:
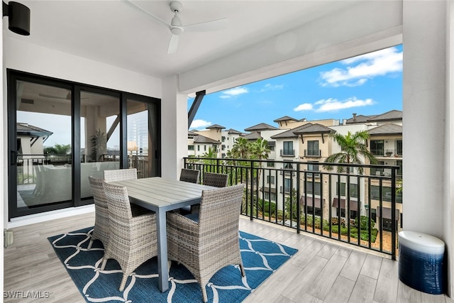
[[(328, 163), (319, 162), (319, 171), (314, 171), (306, 169), (311, 162), (292, 161), (294, 175), (288, 175), (288, 169), (282, 168), (285, 162), (184, 158), (184, 167), (200, 170), (201, 174), (228, 174), (229, 185), (245, 184), (240, 214), (250, 220), (288, 226), (298, 233), (314, 233), (396, 258), (400, 224), (396, 211), (398, 166), (330, 163), (332, 170), (327, 170)], [(358, 168), (364, 174), (358, 174)], [(390, 173), (372, 175), (371, 169)], [(274, 184), (267, 182), (270, 176)], [(402, 195), (399, 198), (402, 202)], [(391, 228), (384, 225), (389, 221)]]

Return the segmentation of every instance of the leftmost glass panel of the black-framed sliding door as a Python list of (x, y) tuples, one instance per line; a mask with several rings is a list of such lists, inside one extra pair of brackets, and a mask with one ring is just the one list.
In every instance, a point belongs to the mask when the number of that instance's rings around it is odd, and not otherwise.
[(72, 197), (71, 92), (16, 83), (16, 211)]

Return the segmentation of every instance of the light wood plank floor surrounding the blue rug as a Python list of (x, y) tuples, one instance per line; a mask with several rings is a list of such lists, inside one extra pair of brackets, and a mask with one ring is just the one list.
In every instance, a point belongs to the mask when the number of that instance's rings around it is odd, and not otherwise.
[[(13, 228), (14, 243), (4, 249), (4, 291), (49, 292), (43, 299), (4, 302), (85, 302), (50, 246), (48, 236), (92, 226), (94, 214), (83, 214)], [(407, 287), (397, 277), (397, 262), (353, 246), (289, 228), (240, 218), (240, 230), (299, 251), (244, 302), (409, 302), (454, 303)]]

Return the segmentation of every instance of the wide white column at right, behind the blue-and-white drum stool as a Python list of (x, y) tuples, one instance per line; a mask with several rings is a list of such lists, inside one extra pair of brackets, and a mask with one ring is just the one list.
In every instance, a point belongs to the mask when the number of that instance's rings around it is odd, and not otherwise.
[(405, 230), (441, 238), (449, 249), (448, 2), (403, 1), (403, 224)]

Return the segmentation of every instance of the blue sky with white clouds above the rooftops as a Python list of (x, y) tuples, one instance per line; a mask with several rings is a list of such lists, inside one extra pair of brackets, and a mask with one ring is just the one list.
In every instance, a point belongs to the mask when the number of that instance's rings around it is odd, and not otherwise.
[[(194, 98), (188, 98), (188, 111)], [(402, 111), (402, 45), (207, 94), (189, 129), (226, 130), (275, 119), (350, 119)]]

